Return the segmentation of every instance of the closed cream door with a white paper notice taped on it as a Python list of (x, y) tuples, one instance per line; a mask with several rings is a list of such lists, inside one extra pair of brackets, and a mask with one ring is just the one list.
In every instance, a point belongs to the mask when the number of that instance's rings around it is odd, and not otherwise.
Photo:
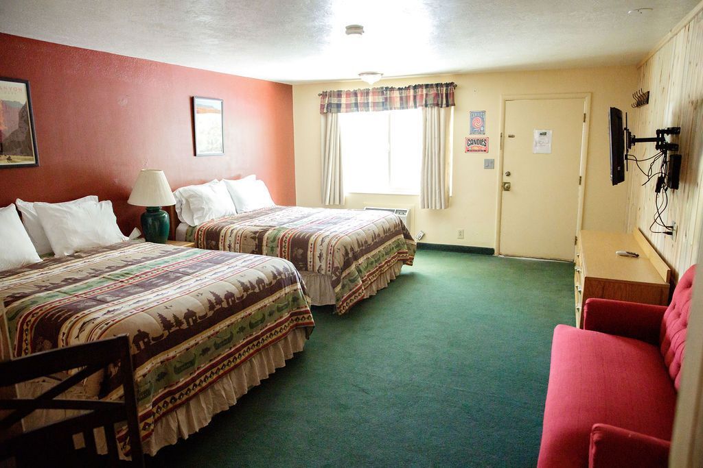
[(585, 104), (505, 101), (501, 255), (574, 259)]

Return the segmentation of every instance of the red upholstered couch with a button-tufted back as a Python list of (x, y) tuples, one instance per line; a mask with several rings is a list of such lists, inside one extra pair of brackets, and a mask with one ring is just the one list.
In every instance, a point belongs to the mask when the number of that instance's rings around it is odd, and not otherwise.
[(589, 299), (555, 328), (538, 467), (666, 466), (694, 276), (669, 307)]

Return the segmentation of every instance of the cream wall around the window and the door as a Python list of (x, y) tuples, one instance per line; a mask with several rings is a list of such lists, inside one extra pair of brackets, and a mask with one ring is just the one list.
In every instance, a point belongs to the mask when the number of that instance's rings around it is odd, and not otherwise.
[[(601, 67), (538, 72), (501, 72), (385, 79), (381, 86), (454, 81), (456, 107), (453, 127), (453, 196), (447, 210), (420, 210), (418, 196), (348, 194), (344, 208), (392, 206), (413, 208), (413, 235), (422, 229), (423, 242), (495, 247), (497, 186), (500, 181), (501, 95), (592, 93), (583, 229), (623, 231), (627, 189), (610, 185), (607, 112), (626, 109), (635, 91), (636, 67)], [(378, 86), (378, 85), (377, 85)], [(361, 81), (338, 81), (293, 86), (295, 187), (297, 204), (321, 204), (320, 99), (323, 90), (366, 87)], [(469, 111), (486, 111), (488, 154), (465, 154)], [(484, 158), (496, 159), (496, 169), (484, 169)], [(576, 207), (574, 207), (576, 209)], [(465, 238), (457, 239), (457, 230)]]

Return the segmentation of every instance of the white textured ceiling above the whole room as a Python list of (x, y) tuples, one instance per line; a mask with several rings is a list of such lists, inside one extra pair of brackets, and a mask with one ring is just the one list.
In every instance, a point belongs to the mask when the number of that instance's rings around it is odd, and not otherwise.
[[(0, 32), (303, 83), (634, 64), (697, 2), (0, 0)], [(353, 23), (359, 41), (344, 34)]]

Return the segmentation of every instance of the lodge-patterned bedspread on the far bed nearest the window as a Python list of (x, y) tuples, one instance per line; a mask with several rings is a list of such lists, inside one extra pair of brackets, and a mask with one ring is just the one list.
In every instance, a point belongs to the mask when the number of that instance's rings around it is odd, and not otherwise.
[(190, 227), (200, 248), (258, 253), (290, 260), (299, 271), (326, 274), (338, 314), (396, 265), (413, 265), (415, 241), (400, 218), (377, 210), (273, 206)]

